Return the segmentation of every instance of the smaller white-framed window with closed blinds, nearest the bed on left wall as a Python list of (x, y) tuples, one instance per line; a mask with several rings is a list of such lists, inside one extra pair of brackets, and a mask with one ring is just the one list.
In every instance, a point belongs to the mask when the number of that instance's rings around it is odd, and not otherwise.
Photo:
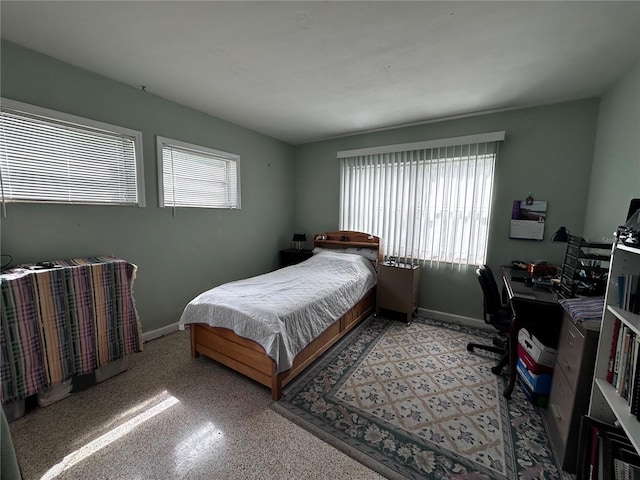
[(157, 137), (161, 207), (240, 208), (240, 157)]

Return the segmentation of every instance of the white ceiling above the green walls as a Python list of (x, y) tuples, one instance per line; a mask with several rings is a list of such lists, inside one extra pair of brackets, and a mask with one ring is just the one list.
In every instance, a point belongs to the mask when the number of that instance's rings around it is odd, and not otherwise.
[(292, 144), (597, 96), (640, 61), (638, 1), (0, 9), (9, 41)]

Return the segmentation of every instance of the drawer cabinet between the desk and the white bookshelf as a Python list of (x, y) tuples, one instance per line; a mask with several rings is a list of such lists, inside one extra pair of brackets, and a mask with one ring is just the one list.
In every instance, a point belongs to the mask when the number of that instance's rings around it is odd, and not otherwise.
[(576, 471), (580, 418), (587, 412), (598, 332), (585, 330), (565, 312), (546, 420), (553, 448), (569, 473)]

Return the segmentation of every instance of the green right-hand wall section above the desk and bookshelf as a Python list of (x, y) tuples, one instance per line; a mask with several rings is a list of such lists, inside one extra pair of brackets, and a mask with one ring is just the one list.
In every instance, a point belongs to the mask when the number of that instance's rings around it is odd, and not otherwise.
[(640, 64), (600, 100), (585, 236), (613, 240), (640, 198)]

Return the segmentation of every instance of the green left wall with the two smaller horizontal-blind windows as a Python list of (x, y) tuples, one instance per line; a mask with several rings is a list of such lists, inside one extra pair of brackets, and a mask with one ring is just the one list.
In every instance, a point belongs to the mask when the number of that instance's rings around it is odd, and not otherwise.
[[(114, 255), (138, 266), (143, 332), (178, 321), (198, 293), (277, 267), (293, 232), (293, 148), (152, 93), (2, 41), (2, 96), (142, 131), (147, 206), (8, 204), (14, 263)], [(241, 156), (241, 210), (158, 207), (155, 136)]]

